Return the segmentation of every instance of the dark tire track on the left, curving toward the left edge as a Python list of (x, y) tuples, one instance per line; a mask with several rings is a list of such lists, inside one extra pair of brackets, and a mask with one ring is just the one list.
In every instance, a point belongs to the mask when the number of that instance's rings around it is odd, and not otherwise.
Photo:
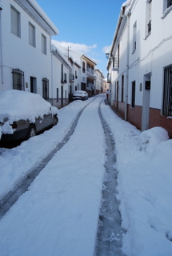
[[(86, 106), (89, 106), (91, 102), (86, 104)], [(47, 163), (50, 162), (50, 160), (54, 157), (54, 154), (56, 154), (58, 150), (61, 150), (62, 146), (64, 146), (69, 141), (71, 135), (74, 134), (75, 127), (78, 124), (78, 120), (81, 117), (83, 110), (86, 109), (86, 106), (84, 106), (82, 110), (79, 111), (77, 117), (74, 119), (72, 126), (70, 127), (70, 130), (62, 139), (62, 142), (59, 142), (58, 145), (54, 148), (54, 150), (52, 150), (50, 154), (48, 154), (42, 162), (40, 162), (37, 166), (34, 166), (34, 168), (32, 168), (26, 175), (26, 177), (22, 178), (22, 180), (18, 182), (18, 185), (14, 187), (14, 190), (11, 190), (0, 200), (0, 219), (6, 214), (8, 210), (10, 210), (10, 207), (14, 205), (18, 198), (23, 193), (25, 193), (26, 190), (28, 190), (30, 184), (34, 181), (34, 179), (38, 176), (42, 169), (47, 165)]]

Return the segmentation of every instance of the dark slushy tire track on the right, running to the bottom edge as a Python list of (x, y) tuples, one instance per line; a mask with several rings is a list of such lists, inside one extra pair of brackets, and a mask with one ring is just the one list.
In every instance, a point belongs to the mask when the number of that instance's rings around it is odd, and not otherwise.
[[(102, 104), (102, 103), (101, 103)], [(118, 191), (118, 172), (115, 168), (116, 155), (114, 138), (110, 127), (102, 117), (101, 104), (98, 114), (102, 122), (102, 128), (106, 140), (106, 173), (102, 186), (102, 206), (98, 221), (98, 234), (95, 255), (97, 256), (124, 256), (122, 254), (122, 237), (125, 230), (121, 227), (121, 214), (119, 212), (119, 202), (116, 198)]]

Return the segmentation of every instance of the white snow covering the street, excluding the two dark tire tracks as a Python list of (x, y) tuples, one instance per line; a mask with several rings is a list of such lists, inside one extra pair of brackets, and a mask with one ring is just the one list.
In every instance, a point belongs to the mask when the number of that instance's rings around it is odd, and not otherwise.
[(1, 150), (0, 199), (62, 142), (90, 103), (69, 141), (0, 220), (1, 256), (95, 255), (107, 159), (98, 107), (115, 142), (115, 189), (126, 230), (122, 251), (126, 256), (172, 255), (172, 141), (160, 127), (137, 130), (104, 99), (101, 94), (72, 102), (59, 110), (57, 126)]

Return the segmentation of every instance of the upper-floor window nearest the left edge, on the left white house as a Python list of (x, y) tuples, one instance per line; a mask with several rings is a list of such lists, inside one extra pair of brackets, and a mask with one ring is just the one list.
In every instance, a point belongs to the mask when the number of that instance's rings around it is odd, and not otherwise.
[(10, 27), (11, 33), (21, 37), (20, 13), (13, 6), (10, 8)]

